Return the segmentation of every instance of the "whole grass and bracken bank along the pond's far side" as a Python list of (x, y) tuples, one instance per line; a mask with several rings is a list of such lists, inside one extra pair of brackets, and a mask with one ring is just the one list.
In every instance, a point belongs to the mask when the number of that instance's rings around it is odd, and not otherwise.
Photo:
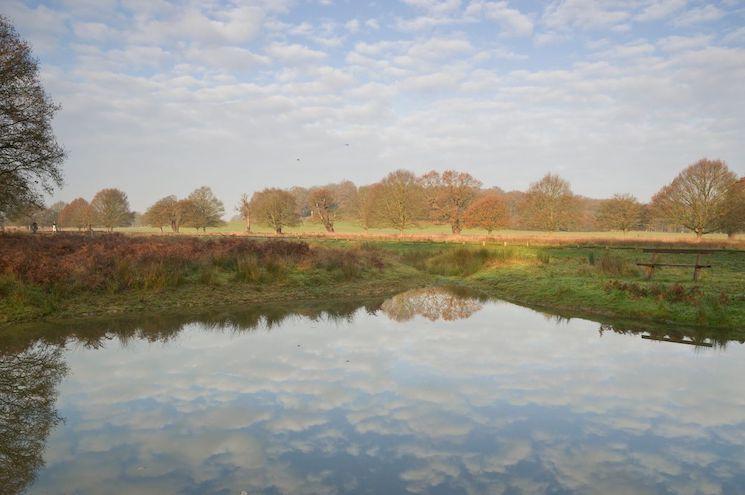
[[(133, 236), (0, 238), (0, 323), (179, 307), (334, 300), (456, 284), (567, 316), (745, 326), (745, 253), (647, 281), (640, 249)], [(689, 255), (671, 261), (692, 261)]]

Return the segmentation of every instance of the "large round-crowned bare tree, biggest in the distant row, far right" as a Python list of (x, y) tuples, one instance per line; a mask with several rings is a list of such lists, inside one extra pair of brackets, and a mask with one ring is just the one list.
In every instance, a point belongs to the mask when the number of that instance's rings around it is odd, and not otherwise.
[(686, 167), (652, 198), (655, 214), (696, 234), (721, 229), (727, 195), (737, 176), (721, 160), (706, 158)]

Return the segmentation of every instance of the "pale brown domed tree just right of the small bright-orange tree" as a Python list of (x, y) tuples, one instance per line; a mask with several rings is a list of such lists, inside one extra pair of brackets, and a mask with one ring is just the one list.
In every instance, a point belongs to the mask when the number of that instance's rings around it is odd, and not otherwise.
[(546, 174), (531, 184), (525, 194), (523, 215), (528, 226), (541, 230), (563, 230), (574, 225), (578, 204), (569, 182)]

